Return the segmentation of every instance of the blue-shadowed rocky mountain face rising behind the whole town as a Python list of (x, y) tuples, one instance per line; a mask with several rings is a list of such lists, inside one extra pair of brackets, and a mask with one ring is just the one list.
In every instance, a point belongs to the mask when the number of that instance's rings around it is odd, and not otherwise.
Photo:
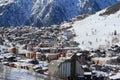
[(0, 26), (47, 26), (95, 13), (119, 0), (1, 0)]

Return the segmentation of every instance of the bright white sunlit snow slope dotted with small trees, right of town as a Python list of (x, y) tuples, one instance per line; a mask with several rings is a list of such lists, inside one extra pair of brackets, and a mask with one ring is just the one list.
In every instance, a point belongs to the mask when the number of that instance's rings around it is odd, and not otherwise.
[[(68, 23), (64, 25), (68, 26)], [(75, 40), (82, 49), (105, 49), (115, 44), (120, 45), (120, 3), (76, 21), (73, 29), (76, 33)]]

